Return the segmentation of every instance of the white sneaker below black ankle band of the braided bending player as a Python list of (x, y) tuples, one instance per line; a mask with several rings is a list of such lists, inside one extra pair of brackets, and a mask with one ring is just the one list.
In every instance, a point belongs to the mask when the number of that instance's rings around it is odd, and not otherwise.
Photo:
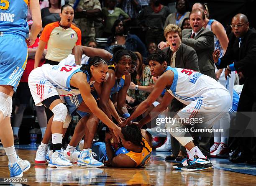
[(49, 167), (57, 167), (57, 168), (69, 168), (73, 167), (73, 164), (67, 161), (67, 159), (63, 155), (63, 148), (61, 150), (56, 150), (51, 155), (51, 161), (49, 162)]

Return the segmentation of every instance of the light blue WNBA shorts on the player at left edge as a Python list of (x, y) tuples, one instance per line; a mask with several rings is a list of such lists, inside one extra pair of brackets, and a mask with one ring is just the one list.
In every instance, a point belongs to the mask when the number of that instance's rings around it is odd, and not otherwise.
[(25, 38), (18, 34), (0, 33), (0, 85), (10, 85), (15, 92), (28, 59)]

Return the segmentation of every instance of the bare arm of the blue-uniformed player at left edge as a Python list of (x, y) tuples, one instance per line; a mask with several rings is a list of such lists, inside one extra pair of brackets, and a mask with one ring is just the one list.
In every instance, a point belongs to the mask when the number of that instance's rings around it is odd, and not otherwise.
[(31, 33), (29, 34), (29, 43), (28, 46), (31, 46), (35, 43), (36, 37), (42, 28), (41, 20), (41, 10), (38, 0), (29, 0), (29, 9), (32, 15), (33, 24), (31, 27)]

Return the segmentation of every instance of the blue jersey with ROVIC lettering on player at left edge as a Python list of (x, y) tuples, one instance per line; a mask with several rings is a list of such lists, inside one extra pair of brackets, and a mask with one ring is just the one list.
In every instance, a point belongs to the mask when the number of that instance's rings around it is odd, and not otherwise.
[(28, 0), (0, 0), (0, 32), (28, 38)]

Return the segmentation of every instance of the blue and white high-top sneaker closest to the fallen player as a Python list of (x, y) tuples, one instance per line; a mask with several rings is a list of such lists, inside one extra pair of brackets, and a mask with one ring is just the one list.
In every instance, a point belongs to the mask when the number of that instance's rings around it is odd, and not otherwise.
[(78, 158), (77, 165), (80, 167), (103, 167), (104, 164), (93, 158), (97, 156), (96, 153), (92, 152), (92, 149), (84, 149), (80, 157)]

